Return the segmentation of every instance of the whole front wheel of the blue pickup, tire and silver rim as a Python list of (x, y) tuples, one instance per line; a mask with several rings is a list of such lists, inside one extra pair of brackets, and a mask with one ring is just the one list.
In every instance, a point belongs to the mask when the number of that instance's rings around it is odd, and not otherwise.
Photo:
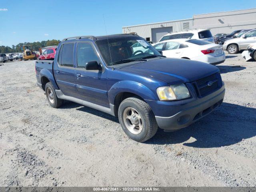
[(126, 135), (137, 142), (149, 140), (158, 129), (150, 106), (138, 98), (123, 100), (118, 108), (118, 118)]

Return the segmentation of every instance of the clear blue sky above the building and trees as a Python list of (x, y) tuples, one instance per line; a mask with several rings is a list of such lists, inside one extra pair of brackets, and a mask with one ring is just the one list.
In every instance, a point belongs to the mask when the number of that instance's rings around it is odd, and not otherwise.
[(250, 8), (255, 0), (0, 0), (0, 46), (119, 34), (123, 26)]

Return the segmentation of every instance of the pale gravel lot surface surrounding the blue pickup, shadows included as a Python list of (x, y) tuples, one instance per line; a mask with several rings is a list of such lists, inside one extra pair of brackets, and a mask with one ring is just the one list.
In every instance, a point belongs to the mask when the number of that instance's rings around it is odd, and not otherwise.
[(256, 62), (218, 65), (222, 106), (145, 143), (118, 118), (65, 102), (51, 108), (34, 61), (0, 66), (0, 186), (256, 186)]

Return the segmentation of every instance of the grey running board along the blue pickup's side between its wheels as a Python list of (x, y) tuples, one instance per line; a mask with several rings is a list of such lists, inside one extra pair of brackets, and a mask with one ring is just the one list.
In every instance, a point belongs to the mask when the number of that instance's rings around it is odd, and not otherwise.
[(100, 106), (100, 105), (97, 105), (97, 104), (94, 104), (94, 103), (91, 103), (91, 102), (88, 102), (88, 101), (84, 101), (84, 100), (81, 100), (81, 99), (78, 99), (78, 98), (74, 98), (74, 97), (71, 97), (71, 96), (66, 96), (62, 93), (61, 90), (55, 90), (55, 93), (56, 93), (56, 95), (59, 99), (79, 103), (81, 105), (84, 105), (84, 106), (87, 106), (87, 107), (90, 107), (90, 108), (94, 108), (96, 110), (99, 110), (99, 111), (102, 111), (102, 112), (105, 112), (105, 113), (108, 113), (108, 114), (114, 116), (113, 107), (110, 109), (110, 108), (103, 107), (103, 106)]

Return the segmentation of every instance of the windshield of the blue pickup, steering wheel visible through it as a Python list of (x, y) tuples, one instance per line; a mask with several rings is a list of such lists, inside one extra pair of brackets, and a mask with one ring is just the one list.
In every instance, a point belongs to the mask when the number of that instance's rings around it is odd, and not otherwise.
[(107, 66), (144, 60), (150, 56), (161, 56), (152, 45), (140, 37), (103, 39), (97, 40), (96, 44)]

